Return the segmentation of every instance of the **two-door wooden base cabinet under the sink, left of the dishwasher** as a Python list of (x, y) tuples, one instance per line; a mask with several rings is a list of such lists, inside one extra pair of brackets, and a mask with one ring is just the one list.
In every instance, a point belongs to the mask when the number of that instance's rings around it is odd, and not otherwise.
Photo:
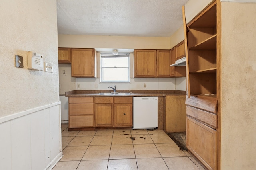
[(96, 127), (132, 127), (132, 97), (96, 97)]

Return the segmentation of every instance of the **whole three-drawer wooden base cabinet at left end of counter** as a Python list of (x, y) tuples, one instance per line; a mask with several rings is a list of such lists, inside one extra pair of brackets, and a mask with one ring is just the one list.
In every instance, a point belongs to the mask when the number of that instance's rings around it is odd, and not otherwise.
[(69, 97), (68, 127), (94, 127), (93, 97)]

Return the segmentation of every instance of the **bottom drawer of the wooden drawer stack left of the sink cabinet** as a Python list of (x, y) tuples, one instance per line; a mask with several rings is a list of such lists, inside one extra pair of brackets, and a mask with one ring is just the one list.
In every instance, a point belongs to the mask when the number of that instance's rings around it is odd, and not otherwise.
[(69, 116), (69, 127), (93, 127), (93, 115)]

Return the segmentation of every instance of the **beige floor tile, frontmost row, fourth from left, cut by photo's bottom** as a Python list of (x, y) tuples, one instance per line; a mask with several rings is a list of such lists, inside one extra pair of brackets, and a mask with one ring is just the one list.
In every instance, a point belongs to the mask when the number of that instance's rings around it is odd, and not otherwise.
[(138, 170), (168, 170), (163, 158), (139, 158)]

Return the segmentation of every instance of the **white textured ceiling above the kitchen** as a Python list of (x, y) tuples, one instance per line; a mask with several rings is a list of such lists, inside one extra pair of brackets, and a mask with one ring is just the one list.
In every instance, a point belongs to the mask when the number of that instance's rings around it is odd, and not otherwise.
[(188, 0), (57, 0), (58, 34), (170, 37)]

